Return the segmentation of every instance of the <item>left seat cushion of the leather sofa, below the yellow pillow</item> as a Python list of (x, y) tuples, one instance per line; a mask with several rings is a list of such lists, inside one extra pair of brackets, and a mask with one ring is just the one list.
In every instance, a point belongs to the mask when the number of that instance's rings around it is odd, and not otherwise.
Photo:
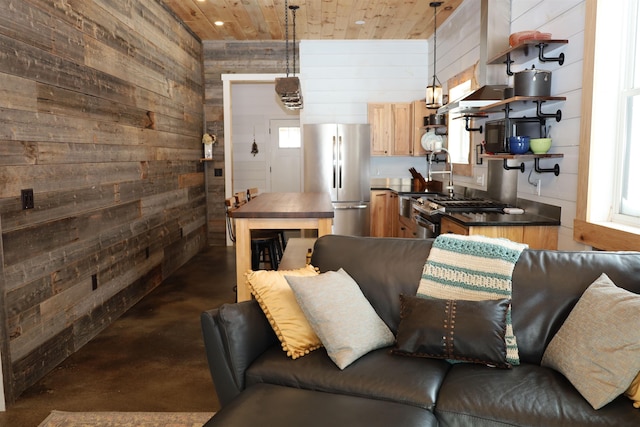
[(253, 362), (245, 379), (248, 386), (270, 383), (433, 410), (449, 367), (444, 360), (398, 357), (381, 348), (340, 370), (324, 348), (291, 360), (272, 347)]

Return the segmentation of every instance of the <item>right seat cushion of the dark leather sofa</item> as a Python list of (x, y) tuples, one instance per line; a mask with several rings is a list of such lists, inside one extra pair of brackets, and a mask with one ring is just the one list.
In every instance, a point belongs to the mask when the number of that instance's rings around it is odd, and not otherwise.
[(452, 365), (435, 414), (440, 425), (453, 427), (640, 425), (640, 411), (625, 397), (596, 411), (562, 374), (528, 363), (508, 370)]

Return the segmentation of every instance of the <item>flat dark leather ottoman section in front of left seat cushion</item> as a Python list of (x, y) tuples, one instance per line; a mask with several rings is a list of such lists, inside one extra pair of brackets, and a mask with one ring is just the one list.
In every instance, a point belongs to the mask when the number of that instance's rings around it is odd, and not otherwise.
[(433, 413), (396, 402), (381, 402), (272, 384), (256, 384), (222, 408), (204, 427), (437, 425)]

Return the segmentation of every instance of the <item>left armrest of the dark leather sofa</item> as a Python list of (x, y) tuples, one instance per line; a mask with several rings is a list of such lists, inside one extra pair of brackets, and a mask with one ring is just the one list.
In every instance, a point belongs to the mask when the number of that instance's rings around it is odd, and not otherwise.
[(244, 390), (251, 363), (278, 339), (255, 300), (205, 311), (200, 321), (209, 371), (224, 406)]

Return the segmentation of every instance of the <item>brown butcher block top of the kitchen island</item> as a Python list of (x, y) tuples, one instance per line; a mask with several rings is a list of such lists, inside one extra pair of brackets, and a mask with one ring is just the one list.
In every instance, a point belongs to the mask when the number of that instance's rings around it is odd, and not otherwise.
[(333, 218), (329, 193), (262, 193), (233, 211), (233, 218)]

